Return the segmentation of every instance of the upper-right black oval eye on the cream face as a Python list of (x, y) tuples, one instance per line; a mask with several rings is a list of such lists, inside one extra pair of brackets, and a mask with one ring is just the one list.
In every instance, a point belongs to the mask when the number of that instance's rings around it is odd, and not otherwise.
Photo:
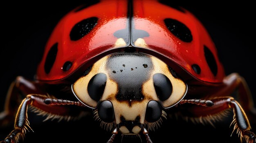
[(173, 86), (170, 79), (168, 79), (168, 77), (166, 77), (162, 73), (156, 73), (155, 75), (153, 75), (153, 82), (157, 97), (161, 101), (167, 100), (171, 96), (171, 93), (173, 91)]

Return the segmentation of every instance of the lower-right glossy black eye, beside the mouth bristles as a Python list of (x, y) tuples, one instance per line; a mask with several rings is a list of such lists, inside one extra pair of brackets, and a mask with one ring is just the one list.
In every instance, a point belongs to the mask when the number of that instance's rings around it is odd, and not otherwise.
[(162, 106), (157, 101), (149, 101), (146, 109), (146, 121), (152, 123), (160, 119)]

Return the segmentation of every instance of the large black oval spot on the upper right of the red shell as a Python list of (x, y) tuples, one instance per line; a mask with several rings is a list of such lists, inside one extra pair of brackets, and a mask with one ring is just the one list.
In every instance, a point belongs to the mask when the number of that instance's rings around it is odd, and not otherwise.
[(171, 18), (166, 18), (164, 23), (169, 31), (183, 42), (191, 42), (193, 40), (191, 31), (185, 24)]

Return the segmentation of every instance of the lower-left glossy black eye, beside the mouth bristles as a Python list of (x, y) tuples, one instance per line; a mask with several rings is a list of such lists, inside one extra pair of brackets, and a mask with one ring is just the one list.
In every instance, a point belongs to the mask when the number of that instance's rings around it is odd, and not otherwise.
[(115, 119), (114, 108), (110, 101), (106, 100), (98, 106), (99, 118), (107, 123), (113, 122)]

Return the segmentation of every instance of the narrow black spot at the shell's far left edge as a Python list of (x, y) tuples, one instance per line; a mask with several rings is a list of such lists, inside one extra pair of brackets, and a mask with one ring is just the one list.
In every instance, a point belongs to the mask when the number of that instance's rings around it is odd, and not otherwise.
[(45, 73), (50, 73), (58, 53), (58, 43), (55, 43), (49, 50), (45, 59)]

